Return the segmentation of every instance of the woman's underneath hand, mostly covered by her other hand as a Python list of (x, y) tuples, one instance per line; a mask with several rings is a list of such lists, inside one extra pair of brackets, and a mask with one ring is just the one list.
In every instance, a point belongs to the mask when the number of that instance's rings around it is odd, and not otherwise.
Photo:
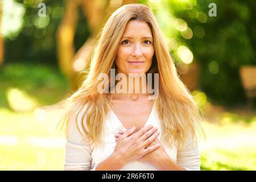
[[(118, 141), (118, 138), (122, 137), (123, 133), (125, 133), (125, 130), (121, 130), (121, 131), (119, 131), (119, 133), (115, 134), (115, 141)], [(153, 135), (158, 137), (159, 131), (157, 131)], [(164, 147), (162, 146), (162, 144), (156, 137), (155, 137), (155, 140), (151, 144), (148, 144), (147, 147), (153, 147), (155, 145), (159, 145), (160, 147), (158, 147), (156, 150), (154, 150), (152, 152), (148, 152), (147, 154), (143, 155), (141, 158), (138, 159), (139, 161), (148, 163), (148, 164), (152, 164), (154, 166), (158, 166), (158, 162), (162, 161), (160, 159), (166, 158), (166, 157), (168, 158), (168, 155), (167, 155), (166, 151), (164, 150)]]

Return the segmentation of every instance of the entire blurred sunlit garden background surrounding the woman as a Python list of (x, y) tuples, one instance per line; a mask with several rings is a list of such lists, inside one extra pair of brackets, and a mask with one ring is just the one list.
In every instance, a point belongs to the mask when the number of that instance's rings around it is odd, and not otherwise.
[(256, 169), (254, 0), (1, 0), (0, 170), (62, 170), (57, 103), (74, 92), (109, 15), (150, 6), (205, 114), (201, 170)]

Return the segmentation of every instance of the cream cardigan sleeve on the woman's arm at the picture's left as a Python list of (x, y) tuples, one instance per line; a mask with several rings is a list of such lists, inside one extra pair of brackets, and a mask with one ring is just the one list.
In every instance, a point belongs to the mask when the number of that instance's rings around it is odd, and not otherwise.
[(75, 114), (73, 114), (67, 123), (66, 129), (64, 170), (94, 171), (96, 167), (91, 169), (91, 163), (90, 140), (79, 133), (76, 126)]

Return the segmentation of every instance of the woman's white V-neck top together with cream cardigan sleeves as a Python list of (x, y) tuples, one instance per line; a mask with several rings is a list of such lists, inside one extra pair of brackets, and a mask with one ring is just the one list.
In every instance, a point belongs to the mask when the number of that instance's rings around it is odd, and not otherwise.
[[(78, 119), (81, 119), (82, 115), (78, 115)], [(160, 126), (160, 119), (156, 111), (155, 102), (152, 107), (150, 116), (148, 117), (145, 126), (153, 125), (158, 128), (160, 135), (158, 139), (162, 143), (164, 149), (170, 158), (180, 167), (187, 170), (200, 170), (200, 151), (197, 146), (197, 137), (192, 142), (192, 137), (187, 139), (185, 147), (181, 148), (176, 144), (176, 147), (170, 148), (161, 140), (162, 129)], [(67, 142), (65, 151), (65, 163), (64, 170), (95, 170), (95, 168), (105, 159), (107, 159), (114, 151), (115, 137), (114, 135), (120, 130), (125, 129), (122, 123), (117, 118), (113, 110), (110, 110), (106, 116), (104, 125), (104, 137), (103, 145), (94, 146), (94, 144), (82, 137), (77, 129), (75, 118), (73, 117), (68, 121), (67, 129)], [(127, 163), (120, 170), (125, 171), (154, 171), (157, 170), (155, 166), (134, 160)]]

